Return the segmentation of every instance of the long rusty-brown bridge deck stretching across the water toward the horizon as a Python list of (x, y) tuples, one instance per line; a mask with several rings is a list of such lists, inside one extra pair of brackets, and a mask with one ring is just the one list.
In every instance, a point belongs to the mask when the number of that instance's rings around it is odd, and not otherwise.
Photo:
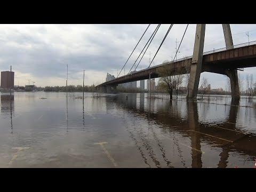
[[(244, 45), (244, 44), (240, 44)], [(210, 52), (203, 53), (203, 63), (202, 72), (209, 71), (213, 73), (218, 73), (218, 69), (236, 69), (236, 68), (246, 68), (246, 67), (256, 67), (256, 41), (251, 42), (251, 45), (239, 46), (230, 50), (222, 48), (219, 50), (214, 50)], [(235, 47), (235, 46), (234, 46)], [(157, 69), (159, 67), (169, 65), (171, 69), (176, 70), (178, 74), (189, 73), (186, 68), (191, 65), (192, 56), (179, 59), (177, 61), (171, 61), (157, 65), (154, 67), (149, 67), (142, 69), (133, 74), (124, 75), (113, 79), (111, 81), (102, 83), (97, 86), (111, 86), (118, 85), (127, 82), (140, 81), (143, 79), (149, 79), (149, 74), (151, 73), (151, 78), (157, 78)], [(214, 69), (214, 70), (213, 70)], [(175, 74), (175, 75), (178, 75)], [(221, 73), (220, 73), (221, 74)]]

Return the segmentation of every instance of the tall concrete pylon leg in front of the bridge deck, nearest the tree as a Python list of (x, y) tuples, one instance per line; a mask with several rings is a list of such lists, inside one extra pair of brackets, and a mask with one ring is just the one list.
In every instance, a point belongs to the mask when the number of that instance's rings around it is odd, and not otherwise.
[(196, 98), (199, 79), (202, 71), (202, 60), (204, 51), (205, 24), (196, 25), (196, 36), (193, 57), (191, 61), (190, 76), (188, 83), (188, 98)]

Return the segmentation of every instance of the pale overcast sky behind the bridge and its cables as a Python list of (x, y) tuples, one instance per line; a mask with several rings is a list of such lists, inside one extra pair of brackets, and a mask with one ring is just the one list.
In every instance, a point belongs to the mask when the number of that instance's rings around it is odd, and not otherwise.
[[(0, 25), (0, 69), (10, 70), (12, 66), (12, 71), (15, 72), (14, 85), (24, 86), (35, 82), (35, 85), (43, 87), (66, 86), (67, 65), (69, 85), (83, 84), (83, 70), (85, 85), (102, 83), (107, 73), (117, 76), (147, 26), (148, 24)], [(157, 24), (151, 24), (141, 39), (126, 63), (126, 74), (156, 26)], [(149, 59), (153, 59), (169, 26), (161, 25), (137, 70), (149, 66)], [(175, 55), (175, 41), (177, 39), (178, 47), (186, 26), (187, 24), (173, 25), (151, 66), (159, 65), (164, 60), (172, 60)], [(255, 24), (231, 24), (230, 27), (234, 45), (248, 42), (248, 31), (249, 41), (256, 41)], [(193, 54), (195, 30), (196, 24), (188, 26), (177, 59)], [(222, 25), (207, 24), (204, 52), (222, 47), (225, 47)], [(246, 68), (239, 71), (239, 74), (244, 78), (246, 74), (253, 74), (256, 81), (256, 68)], [(124, 75), (124, 69), (121, 75)], [(212, 88), (225, 89), (226, 76), (202, 73), (201, 79), (203, 77), (208, 78)], [(139, 86), (139, 82), (137, 84)]]

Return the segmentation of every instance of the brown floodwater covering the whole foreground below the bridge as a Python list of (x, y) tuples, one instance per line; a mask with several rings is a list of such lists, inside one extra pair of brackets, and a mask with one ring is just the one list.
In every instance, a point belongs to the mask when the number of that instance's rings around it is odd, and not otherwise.
[(254, 167), (254, 99), (12, 94), (1, 94), (0, 167)]

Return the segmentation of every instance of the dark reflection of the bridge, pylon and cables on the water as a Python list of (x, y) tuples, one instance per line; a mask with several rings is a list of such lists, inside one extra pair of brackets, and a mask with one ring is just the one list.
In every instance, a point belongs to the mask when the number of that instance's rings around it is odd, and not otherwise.
[[(111, 102), (111, 98), (106, 98), (108, 102)], [(160, 167), (159, 162), (157, 161), (153, 148), (149, 145), (150, 142), (147, 140), (147, 135), (143, 133), (141, 127), (136, 127), (135, 118), (142, 117), (147, 119), (149, 130), (153, 133), (153, 138), (156, 140), (156, 143), (159, 149), (162, 151), (162, 156), (164, 161), (167, 163), (167, 166), (173, 167), (171, 160), (166, 158), (166, 152), (161, 143), (161, 140), (157, 138), (157, 134), (154, 133), (152, 128), (154, 122), (157, 125), (169, 125), (169, 127), (161, 127), (161, 131), (165, 134), (173, 134), (172, 137), (174, 144), (178, 148), (179, 157), (183, 166), (185, 166), (182, 155), (179, 151), (179, 141), (175, 138), (174, 132), (180, 133), (184, 138), (190, 138), (191, 140), (191, 156), (192, 163), (191, 167), (202, 167), (202, 151), (201, 144), (202, 142), (207, 142), (210, 146), (219, 147), (222, 149), (220, 156), (220, 161), (217, 167), (227, 167), (229, 153), (231, 151), (238, 151), (238, 153), (245, 154), (250, 156), (251, 161), (255, 161), (256, 151), (253, 146), (256, 146), (256, 135), (246, 132), (239, 129), (236, 126), (238, 107), (230, 106), (229, 115), (226, 118), (226, 121), (216, 121), (212, 123), (205, 123), (199, 121), (197, 102), (187, 102), (187, 118), (183, 118), (178, 113), (177, 103), (172, 101), (172, 105), (165, 106), (161, 105), (163, 109), (154, 109), (155, 100), (147, 99), (147, 109), (145, 109), (145, 94), (140, 94), (139, 100), (137, 100), (137, 94), (129, 94), (128, 99), (126, 100), (125, 95), (116, 96), (114, 99), (115, 103), (122, 108), (128, 109), (129, 112), (132, 111), (134, 114), (134, 125), (133, 129), (127, 127), (127, 131), (131, 134), (131, 138), (135, 142), (135, 145), (139, 149), (144, 162), (148, 164), (147, 159), (145, 158), (146, 154), (143, 153), (141, 147), (139, 146), (138, 140), (134, 137), (137, 134), (139, 139), (142, 141), (142, 146), (144, 146), (147, 151), (149, 151), (149, 156), (157, 167)], [(150, 101), (150, 102), (149, 102)], [(179, 101), (186, 102), (186, 101)], [(139, 103), (139, 105), (138, 105)], [(176, 104), (175, 104), (176, 103)], [(207, 104), (205, 104), (207, 105)], [(176, 107), (176, 108), (175, 108)], [(166, 110), (168, 113), (166, 113)], [(172, 110), (172, 112), (171, 112)], [(163, 113), (165, 111), (165, 113)], [(125, 117), (124, 117), (125, 119)], [(171, 139), (171, 138), (169, 138)], [(182, 145), (182, 143), (180, 143)], [(159, 157), (159, 156), (158, 156)], [(149, 165), (149, 164), (148, 164)]]

